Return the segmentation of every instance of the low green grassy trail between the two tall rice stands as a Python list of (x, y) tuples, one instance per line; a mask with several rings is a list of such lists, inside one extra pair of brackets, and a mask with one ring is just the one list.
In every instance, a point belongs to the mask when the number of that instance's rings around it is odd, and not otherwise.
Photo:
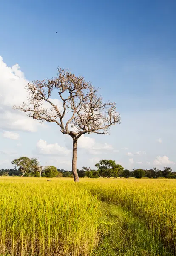
[(145, 223), (129, 211), (102, 202), (102, 216), (107, 230), (99, 241), (94, 256), (172, 256)]

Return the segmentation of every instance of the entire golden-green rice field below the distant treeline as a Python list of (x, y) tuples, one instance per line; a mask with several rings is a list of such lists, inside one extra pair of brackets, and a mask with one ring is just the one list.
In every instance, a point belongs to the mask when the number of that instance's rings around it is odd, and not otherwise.
[(0, 177), (1, 256), (172, 256), (176, 180)]

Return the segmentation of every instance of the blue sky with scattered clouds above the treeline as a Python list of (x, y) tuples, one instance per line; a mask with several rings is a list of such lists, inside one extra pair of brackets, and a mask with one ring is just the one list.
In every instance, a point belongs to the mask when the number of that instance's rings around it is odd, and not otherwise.
[[(37, 125), (11, 111), (26, 80), (55, 76), (60, 66), (100, 87), (121, 113), (122, 124), (111, 135), (82, 139), (78, 168), (112, 158), (129, 169), (175, 169), (175, 11), (174, 0), (1, 1), (0, 168), (26, 154), (39, 157), (43, 165), (71, 169), (71, 141), (57, 126)], [(26, 80), (7, 68), (16, 63)], [(13, 74), (20, 85), (9, 79)]]

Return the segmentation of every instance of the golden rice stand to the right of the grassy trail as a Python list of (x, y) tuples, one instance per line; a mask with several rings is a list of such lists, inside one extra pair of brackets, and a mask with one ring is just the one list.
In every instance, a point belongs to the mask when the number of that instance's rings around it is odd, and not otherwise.
[(176, 254), (176, 180), (99, 179), (79, 186), (101, 201), (130, 210)]

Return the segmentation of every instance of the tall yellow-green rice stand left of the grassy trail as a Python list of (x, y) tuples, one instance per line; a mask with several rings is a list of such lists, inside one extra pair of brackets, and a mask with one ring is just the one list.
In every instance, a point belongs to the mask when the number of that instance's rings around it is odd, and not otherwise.
[(99, 222), (99, 201), (74, 183), (0, 179), (2, 255), (91, 254)]

